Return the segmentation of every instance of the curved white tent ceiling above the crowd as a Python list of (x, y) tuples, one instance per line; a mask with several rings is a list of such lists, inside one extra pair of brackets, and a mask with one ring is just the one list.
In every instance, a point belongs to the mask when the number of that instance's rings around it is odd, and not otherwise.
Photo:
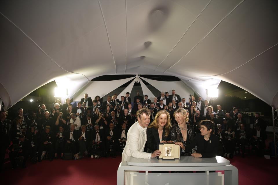
[(224, 80), (277, 106), (277, 9), (274, 0), (3, 0), (0, 97), (8, 108), (52, 80), (72, 97), (101, 75), (154, 74), (203, 97)]

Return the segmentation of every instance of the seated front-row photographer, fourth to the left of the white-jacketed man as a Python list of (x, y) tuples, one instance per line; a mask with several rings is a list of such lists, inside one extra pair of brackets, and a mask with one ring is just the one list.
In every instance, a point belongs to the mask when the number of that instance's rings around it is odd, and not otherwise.
[(92, 148), (91, 132), (86, 130), (85, 125), (81, 125), (81, 133), (78, 138), (79, 152), (74, 155), (76, 159), (82, 159), (84, 156), (88, 156), (90, 149)]

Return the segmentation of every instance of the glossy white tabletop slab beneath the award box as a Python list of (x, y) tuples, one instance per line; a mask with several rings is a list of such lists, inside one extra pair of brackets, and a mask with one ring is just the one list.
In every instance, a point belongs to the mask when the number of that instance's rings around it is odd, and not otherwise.
[(193, 158), (180, 157), (175, 160), (162, 160), (157, 158), (140, 159), (132, 156), (127, 157), (127, 165), (130, 166), (226, 166), (230, 165), (230, 161), (216, 156), (214, 158)]

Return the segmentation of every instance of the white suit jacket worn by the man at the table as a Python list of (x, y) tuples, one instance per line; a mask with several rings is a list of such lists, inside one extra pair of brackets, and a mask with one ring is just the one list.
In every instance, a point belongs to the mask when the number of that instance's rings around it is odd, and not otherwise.
[(122, 162), (127, 161), (128, 156), (134, 158), (151, 158), (151, 153), (144, 152), (147, 140), (147, 128), (143, 128), (136, 121), (127, 133), (127, 142), (122, 152)]

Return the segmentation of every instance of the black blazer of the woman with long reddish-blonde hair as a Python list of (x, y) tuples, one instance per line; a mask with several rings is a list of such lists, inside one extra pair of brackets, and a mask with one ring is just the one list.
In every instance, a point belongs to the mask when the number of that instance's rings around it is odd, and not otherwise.
[[(163, 129), (162, 132), (162, 141), (168, 141), (169, 137), (171, 136), (171, 132), (169, 131), (168, 136), (165, 136), (165, 130)], [(158, 149), (157, 144), (160, 143), (158, 130), (154, 127), (147, 129), (147, 150), (149, 153), (153, 153), (155, 150)]]

